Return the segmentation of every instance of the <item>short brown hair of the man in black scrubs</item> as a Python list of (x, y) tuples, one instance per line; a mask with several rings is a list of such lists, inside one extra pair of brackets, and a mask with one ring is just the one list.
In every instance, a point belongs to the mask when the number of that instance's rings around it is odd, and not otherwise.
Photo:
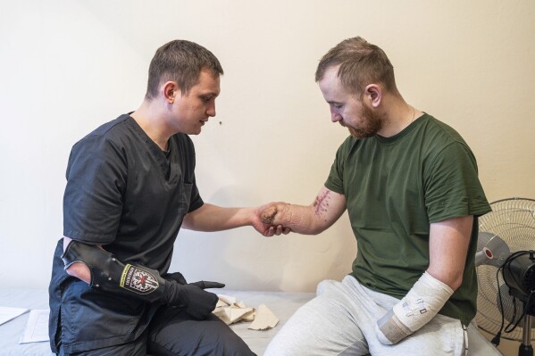
[(155, 98), (158, 87), (168, 80), (176, 81), (182, 94), (188, 94), (203, 69), (212, 70), (214, 76), (223, 74), (221, 63), (205, 47), (186, 40), (171, 41), (158, 48), (150, 62), (145, 98)]

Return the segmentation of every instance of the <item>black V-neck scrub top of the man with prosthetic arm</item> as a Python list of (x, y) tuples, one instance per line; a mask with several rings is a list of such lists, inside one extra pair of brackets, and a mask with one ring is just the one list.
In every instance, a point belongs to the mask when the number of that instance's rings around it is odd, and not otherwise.
[[(63, 235), (103, 244), (120, 261), (166, 273), (182, 219), (203, 205), (191, 139), (174, 135), (169, 149), (166, 157), (128, 114), (81, 139), (67, 167)], [(79, 352), (141, 335), (157, 305), (105, 294), (69, 277), (62, 253), (63, 239), (54, 253), (49, 289), (53, 352), (60, 337), (65, 352)]]

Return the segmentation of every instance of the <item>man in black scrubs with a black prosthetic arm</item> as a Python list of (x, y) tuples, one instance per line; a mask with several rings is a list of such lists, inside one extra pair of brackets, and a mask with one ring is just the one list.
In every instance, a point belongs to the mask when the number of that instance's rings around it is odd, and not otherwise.
[(205, 47), (160, 47), (135, 112), (72, 147), (63, 235), (54, 253), (49, 334), (62, 355), (250, 355), (212, 310), (217, 296), (168, 273), (180, 227), (218, 231), (264, 224), (262, 208), (204, 203), (196, 187), (197, 135), (215, 116), (223, 70)]

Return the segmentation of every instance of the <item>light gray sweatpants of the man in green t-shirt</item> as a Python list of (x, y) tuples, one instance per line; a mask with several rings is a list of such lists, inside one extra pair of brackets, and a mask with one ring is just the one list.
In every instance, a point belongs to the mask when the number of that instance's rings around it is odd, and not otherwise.
[(396, 298), (362, 286), (352, 276), (342, 282), (322, 281), (317, 296), (280, 329), (264, 356), (465, 355), (465, 328), (458, 319), (443, 315), (437, 315), (398, 344), (380, 344), (375, 322), (397, 302)]

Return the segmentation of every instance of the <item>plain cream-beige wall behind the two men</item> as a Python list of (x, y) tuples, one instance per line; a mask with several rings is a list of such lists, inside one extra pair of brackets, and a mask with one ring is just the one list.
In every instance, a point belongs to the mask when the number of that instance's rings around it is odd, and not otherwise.
[[(223, 65), (217, 117), (193, 137), (206, 202), (311, 203), (347, 132), (313, 81), (346, 37), (381, 46), (409, 103), (472, 146), (489, 201), (535, 198), (535, 2), (47, 1), (0, 13), (0, 279), (46, 286), (71, 145), (137, 108), (158, 46)], [(150, 5), (149, 5), (150, 4)], [(355, 256), (347, 217), (320, 236), (180, 232), (172, 269), (233, 289), (313, 291)]]

